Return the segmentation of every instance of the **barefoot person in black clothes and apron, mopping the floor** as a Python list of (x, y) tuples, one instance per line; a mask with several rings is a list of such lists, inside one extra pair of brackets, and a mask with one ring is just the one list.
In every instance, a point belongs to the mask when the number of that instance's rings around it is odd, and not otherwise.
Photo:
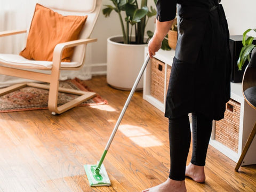
[[(220, 0), (158, 0), (154, 36), (148, 44), (150, 58), (178, 15), (178, 42), (166, 95), (169, 118), (170, 174), (167, 180), (143, 192), (186, 191), (185, 177), (205, 181), (205, 159), (212, 121), (224, 116), (230, 99), (231, 60), (229, 30)], [(192, 114), (193, 153), (190, 147)]]

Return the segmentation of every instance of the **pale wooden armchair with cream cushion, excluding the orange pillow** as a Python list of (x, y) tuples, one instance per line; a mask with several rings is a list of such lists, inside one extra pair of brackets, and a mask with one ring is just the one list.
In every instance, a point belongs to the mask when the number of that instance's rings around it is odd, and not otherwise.
[[(53, 10), (54, 12), (64, 15), (65, 17), (66, 15), (87, 15), (87, 20), (81, 29), (81, 32), (79, 33), (78, 39), (69, 42), (58, 43), (55, 46), (52, 61), (29, 60), (20, 55), (0, 54), (0, 74), (50, 83), (49, 86), (40, 83), (15, 84), (10, 87), (1, 89), (0, 95), (18, 90), (24, 86), (49, 89), (49, 110), (52, 112), (52, 114), (61, 114), (64, 111), (77, 106), (79, 103), (82, 103), (83, 101), (90, 99), (95, 95), (93, 92), (59, 88), (59, 76), (60, 70), (79, 70), (83, 67), (87, 43), (97, 41), (97, 39), (90, 39), (90, 35), (92, 33), (95, 22), (98, 19), (101, 8), (101, 0), (40, 0), (38, 3)], [(69, 29), (65, 28), (60, 30)], [(26, 32), (28, 36), (29, 31), (27, 30), (4, 31), (0, 33), (0, 37)], [(38, 38), (42, 37), (38, 36)], [(62, 62), (63, 51), (70, 47), (75, 47), (71, 62)], [(45, 73), (45, 71), (48, 72)], [(80, 96), (58, 107), (58, 92), (66, 92)]]

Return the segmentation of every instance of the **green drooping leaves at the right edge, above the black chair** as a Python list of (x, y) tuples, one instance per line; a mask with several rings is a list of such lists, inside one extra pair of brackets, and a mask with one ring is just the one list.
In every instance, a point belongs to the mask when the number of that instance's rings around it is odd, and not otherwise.
[(256, 32), (256, 29), (247, 29), (246, 31), (244, 31), (244, 34), (243, 34), (243, 41), (242, 41), (243, 47), (241, 49), (241, 52), (239, 54), (239, 58), (237, 61), (238, 70), (242, 70), (242, 67), (246, 60), (250, 61), (250, 54), (254, 49), (254, 47), (256, 47), (256, 45), (253, 44), (253, 39), (255, 37), (252, 37), (252, 36), (247, 37), (247, 33), (249, 33), (251, 30), (254, 30)]

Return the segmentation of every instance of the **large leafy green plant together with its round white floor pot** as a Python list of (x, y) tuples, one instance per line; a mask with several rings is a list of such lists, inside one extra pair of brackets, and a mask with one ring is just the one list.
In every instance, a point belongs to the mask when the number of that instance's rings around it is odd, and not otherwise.
[[(145, 28), (156, 10), (147, 7), (147, 0), (110, 0), (103, 15), (108, 17), (115, 11), (119, 17), (122, 36), (109, 37), (107, 41), (107, 83), (117, 89), (130, 90), (144, 60), (144, 49), (148, 39)], [(142, 89), (142, 81), (138, 89)]]

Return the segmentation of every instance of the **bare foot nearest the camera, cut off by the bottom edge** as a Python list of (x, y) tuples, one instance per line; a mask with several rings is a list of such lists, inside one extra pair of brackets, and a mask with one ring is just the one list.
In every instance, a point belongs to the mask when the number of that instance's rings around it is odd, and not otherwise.
[(175, 181), (168, 178), (164, 183), (142, 192), (186, 192), (185, 181)]

